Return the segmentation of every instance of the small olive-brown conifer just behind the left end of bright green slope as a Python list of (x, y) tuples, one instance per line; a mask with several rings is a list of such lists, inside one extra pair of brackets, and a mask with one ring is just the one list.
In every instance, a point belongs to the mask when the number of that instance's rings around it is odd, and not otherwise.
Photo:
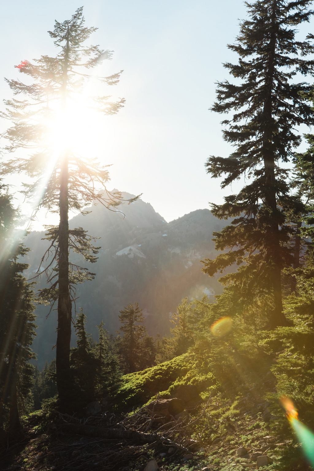
[(125, 373), (133, 373), (140, 370), (142, 351), (142, 338), (147, 334), (143, 324), (144, 316), (139, 309), (138, 302), (129, 304), (120, 311), (121, 327), (118, 333), (123, 336), (118, 340), (118, 354)]

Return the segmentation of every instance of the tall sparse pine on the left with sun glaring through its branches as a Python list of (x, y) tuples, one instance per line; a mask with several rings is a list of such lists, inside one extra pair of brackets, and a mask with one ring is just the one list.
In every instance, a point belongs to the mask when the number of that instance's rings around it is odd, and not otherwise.
[[(50, 246), (43, 255), (42, 263), (48, 267), (40, 272), (48, 275), (48, 288), (40, 292), (43, 302), (57, 300), (58, 327), (56, 340), (56, 381), (58, 395), (63, 406), (68, 401), (72, 301), (75, 299), (75, 284), (92, 279), (95, 274), (87, 268), (69, 263), (69, 251), (80, 253), (89, 262), (97, 260), (99, 247), (91, 242), (93, 237), (82, 227), (69, 230), (69, 211), (81, 211), (92, 202), (106, 208), (114, 208), (122, 202), (120, 192), (111, 193), (105, 187), (109, 180), (108, 169), (94, 156), (81, 156), (71, 149), (69, 134), (71, 127), (71, 103), (79, 97), (84, 83), (98, 79), (104, 84), (115, 85), (121, 72), (107, 77), (97, 77), (88, 71), (112, 52), (98, 46), (86, 46), (92, 32), (97, 28), (84, 26), (82, 8), (78, 8), (70, 20), (55, 22), (49, 31), (58, 53), (56, 57), (41, 56), (33, 62), (24, 60), (16, 67), (27, 78), (27, 83), (7, 80), (13, 94), (18, 97), (5, 101), (6, 112), (2, 117), (13, 122), (4, 137), (9, 144), (8, 152), (24, 148), (34, 149), (12, 158), (2, 165), (3, 173), (24, 173), (32, 178), (24, 184), (26, 198), (36, 200), (36, 211), (46, 208), (60, 216), (58, 226), (48, 226), (47, 239)], [(30, 83), (31, 82), (31, 83)], [(111, 102), (109, 96), (91, 97), (91, 108), (111, 115), (124, 104), (124, 98)], [(84, 110), (81, 110), (84, 113)]]

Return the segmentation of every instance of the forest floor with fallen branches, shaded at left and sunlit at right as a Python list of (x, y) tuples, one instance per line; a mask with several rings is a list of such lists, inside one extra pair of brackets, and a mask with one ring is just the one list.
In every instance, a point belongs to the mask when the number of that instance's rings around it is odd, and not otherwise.
[[(272, 378), (263, 384), (266, 390), (274, 387)], [(259, 456), (268, 457), (262, 470), (311, 469), (298, 443), (274, 432), (276, 418), (261, 392), (251, 388), (242, 397), (215, 396), (176, 417), (156, 420), (146, 407), (131, 414), (105, 411), (81, 418), (39, 411), (26, 420), (23, 436), (3, 452), (1, 470), (143, 471), (155, 461), (150, 471), (157, 465), (161, 471), (242, 471), (257, 469)], [(95, 436), (86, 436), (84, 427), (88, 433), (93, 428)], [(122, 438), (97, 436), (97, 430), (120, 430)], [(124, 433), (135, 436), (124, 438)]]

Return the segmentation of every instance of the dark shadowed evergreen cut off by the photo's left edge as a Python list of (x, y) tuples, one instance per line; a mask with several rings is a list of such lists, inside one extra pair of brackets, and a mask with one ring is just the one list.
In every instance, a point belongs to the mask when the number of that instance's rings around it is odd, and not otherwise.
[(1, 186), (0, 193), (0, 441), (4, 430), (13, 433), (21, 427), (32, 387), (35, 358), (30, 345), (35, 335), (32, 286), (23, 276), (27, 264), (18, 258), (27, 249), (14, 233), (17, 212), (12, 198)]

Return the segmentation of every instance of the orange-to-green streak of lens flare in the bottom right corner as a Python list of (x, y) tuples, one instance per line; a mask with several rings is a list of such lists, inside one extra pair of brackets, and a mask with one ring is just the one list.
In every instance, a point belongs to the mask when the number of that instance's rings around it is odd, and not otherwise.
[(304, 454), (310, 465), (314, 467), (314, 433), (298, 420), (298, 411), (287, 396), (280, 398), (282, 406), (286, 409), (287, 418), (303, 447)]

